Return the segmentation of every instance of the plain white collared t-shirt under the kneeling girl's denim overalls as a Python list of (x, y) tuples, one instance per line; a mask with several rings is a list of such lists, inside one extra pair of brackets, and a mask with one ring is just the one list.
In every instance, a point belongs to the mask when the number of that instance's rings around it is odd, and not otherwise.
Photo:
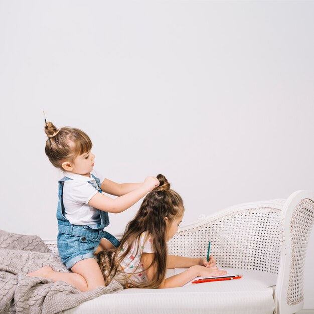
[[(95, 170), (91, 172), (102, 183), (105, 178), (96, 173)], [(72, 179), (64, 182), (63, 186), (63, 205), (65, 209), (65, 218), (69, 220), (72, 225), (93, 225), (100, 223), (99, 210), (88, 205), (90, 199), (99, 193), (89, 181), (96, 184), (95, 179), (90, 176), (85, 177), (77, 174), (66, 172), (65, 176)], [(96, 184), (97, 186), (97, 184)]]

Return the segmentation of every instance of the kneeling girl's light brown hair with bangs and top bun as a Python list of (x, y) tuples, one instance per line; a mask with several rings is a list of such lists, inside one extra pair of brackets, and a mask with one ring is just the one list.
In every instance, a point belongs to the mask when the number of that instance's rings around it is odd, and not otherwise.
[(91, 150), (93, 144), (88, 135), (78, 128), (69, 126), (57, 129), (52, 122), (46, 122), (45, 152), (53, 166), (64, 170), (62, 163), (73, 161), (78, 155)]

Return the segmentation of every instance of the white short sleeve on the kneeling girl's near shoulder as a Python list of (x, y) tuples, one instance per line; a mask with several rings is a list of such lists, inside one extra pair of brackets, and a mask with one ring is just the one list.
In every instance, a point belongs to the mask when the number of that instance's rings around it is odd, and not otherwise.
[(63, 190), (63, 199), (84, 204), (88, 204), (90, 199), (98, 193), (90, 183), (75, 180), (66, 181)]

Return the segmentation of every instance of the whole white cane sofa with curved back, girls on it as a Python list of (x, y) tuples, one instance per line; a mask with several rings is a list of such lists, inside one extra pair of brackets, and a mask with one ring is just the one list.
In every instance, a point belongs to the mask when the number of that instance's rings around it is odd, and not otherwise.
[[(203, 216), (180, 228), (169, 253), (206, 256), (242, 279), (171, 289), (125, 289), (82, 303), (66, 313), (294, 313), (303, 306), (303, 272), (314, 223), (314, 193), (287, 200), (246, 203)], [(48, 243), (51, 250), (55, 243)], [(169, 270), (168, 275), (175, 270)]]

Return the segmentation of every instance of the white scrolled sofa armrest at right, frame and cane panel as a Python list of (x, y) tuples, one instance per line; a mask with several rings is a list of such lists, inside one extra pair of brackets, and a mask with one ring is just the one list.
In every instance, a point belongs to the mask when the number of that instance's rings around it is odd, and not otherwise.
[(275, 290), (276, 312), (290, 314), (304, 303), (304, 268), (308, 239), (314, 224), (314, 193), (297, 191), (281, 213), (282, 248)]

